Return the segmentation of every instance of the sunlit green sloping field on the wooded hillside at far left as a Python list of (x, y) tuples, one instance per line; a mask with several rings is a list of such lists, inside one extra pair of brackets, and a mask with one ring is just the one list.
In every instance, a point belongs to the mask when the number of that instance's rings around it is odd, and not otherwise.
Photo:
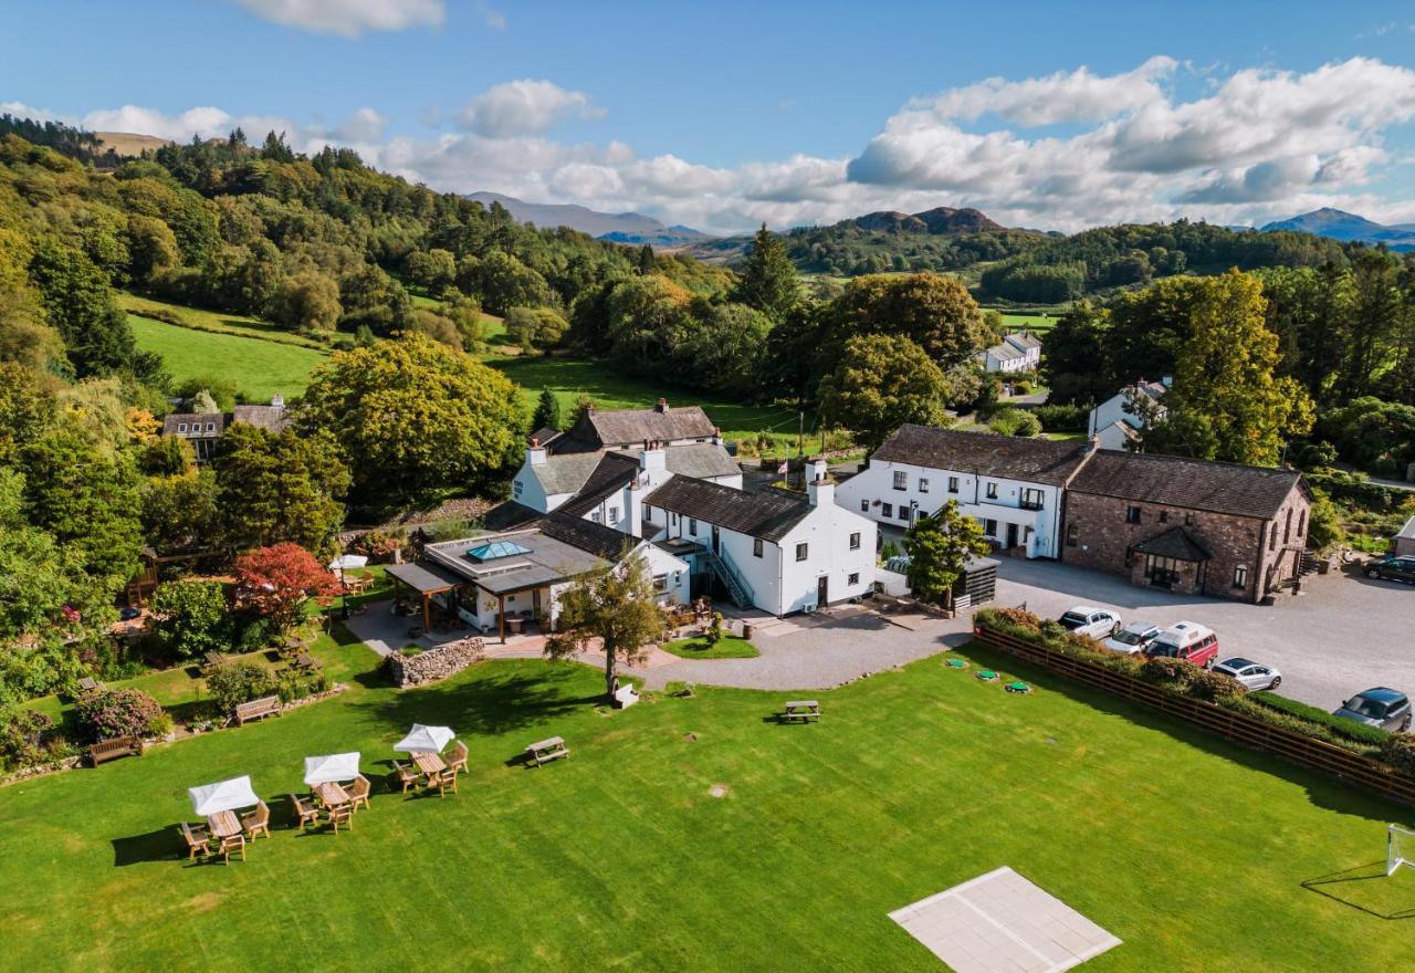
[(286, 399), (304, 392), (323, 352), (256, 337), (194, 331), (137, 314), (127, 315), (143, 351), (156, 351), (178, 382), (221, 376), (255, 402), (280, 393)]

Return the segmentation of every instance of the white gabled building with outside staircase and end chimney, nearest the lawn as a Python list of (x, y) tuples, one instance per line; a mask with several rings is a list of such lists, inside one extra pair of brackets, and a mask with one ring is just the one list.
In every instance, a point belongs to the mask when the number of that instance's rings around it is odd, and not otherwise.
[(805, 495), (674, 477), (644, 496), (642, 535), (773, 615), (863, 597), (874, 584), (874, 523), (833, 502), (824, 461), (812, 472)]

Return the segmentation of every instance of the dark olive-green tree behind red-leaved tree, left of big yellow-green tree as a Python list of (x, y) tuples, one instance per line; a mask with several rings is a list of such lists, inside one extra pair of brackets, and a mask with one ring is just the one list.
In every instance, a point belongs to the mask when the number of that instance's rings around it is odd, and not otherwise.
[(236, 423), (216, 441), (215, 508), (233, 544), (291, 540), (318, 550), (344, 520), (350, 472), (328, 433)]

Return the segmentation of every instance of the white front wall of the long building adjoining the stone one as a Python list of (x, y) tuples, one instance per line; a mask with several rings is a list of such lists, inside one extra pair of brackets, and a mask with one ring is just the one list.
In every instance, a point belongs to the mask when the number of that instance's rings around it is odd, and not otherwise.
[[(906, 474), (906, 488), (894, 489), (894, 471)], [(958, 492), (948, 491), (948, 478), (958, 478)], [(920, 489), (920, 479), (928, 489)], [(988, 484), (998, 485), (996, 499), (988, 498)], [(1024, 489), (1041, 491), (1041, 509), (1019, 506)], [(995, 525), (990, 539), (1006, 543), (1007, 525), (1017, 525), (1017, 543), (1024, 544), (1027, 557), (1057, 557), (1060, 552), (1061, 489), (1047, 484), (1033, 484), (1003, 477), (975, 475), (961, 470), (931, 470), (908, 462), (870, 460), (870, 465), (836, 486), (835, 502), (846, 511), (879, 523), (907, 529), (910, 519), (900, 509), (910, 511), (918, 503), (918, 513), (932, 513), (948, 501), (958, 501), (959, 509), (981, 522)], [(884, 516), (889, 503), (891, 515)], [(1030, 529), (1030, 536), (1029, 536)]]

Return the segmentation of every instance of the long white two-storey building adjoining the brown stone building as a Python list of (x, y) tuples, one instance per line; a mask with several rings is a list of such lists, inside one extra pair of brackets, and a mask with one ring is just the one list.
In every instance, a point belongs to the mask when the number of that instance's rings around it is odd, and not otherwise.
[(1061, 496), (1091, 455), (1084, 443), (901, 426), (836, 491), (836, 503), (906, 530), (948, 501), (1000, 549), (1057, 557)]

